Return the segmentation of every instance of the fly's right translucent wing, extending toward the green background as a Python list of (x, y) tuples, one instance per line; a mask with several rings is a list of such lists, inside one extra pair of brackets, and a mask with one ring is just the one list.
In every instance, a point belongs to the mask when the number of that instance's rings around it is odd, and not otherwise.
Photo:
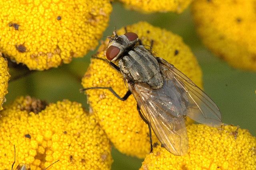
[(187, 116), (209, 126), (220, 126), (222, 117), (217, 105), (186, 75), (162, 58), (158, 58), (161, 72), (168, 79), (180, 84), (188, 96)]

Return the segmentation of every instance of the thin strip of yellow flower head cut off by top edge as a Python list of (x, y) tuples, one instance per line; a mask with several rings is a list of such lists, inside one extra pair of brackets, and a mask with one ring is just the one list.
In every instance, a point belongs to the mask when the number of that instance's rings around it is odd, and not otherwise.
[(140, 12), (176, 12), (182, 13), (192, 0), (119, 0), (126, 8)]

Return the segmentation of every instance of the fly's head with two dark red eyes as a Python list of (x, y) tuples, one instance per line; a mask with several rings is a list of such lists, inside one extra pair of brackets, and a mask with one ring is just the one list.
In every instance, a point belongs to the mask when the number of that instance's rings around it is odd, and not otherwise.
[(124, 53), (130, 51), (139, 42), (138, 35), (134, 32), (126, 32), (118, 36), (113, 32), (114, 37), (110, 38), (106, 57), (109, 61), (116, 61), (124, 56)]

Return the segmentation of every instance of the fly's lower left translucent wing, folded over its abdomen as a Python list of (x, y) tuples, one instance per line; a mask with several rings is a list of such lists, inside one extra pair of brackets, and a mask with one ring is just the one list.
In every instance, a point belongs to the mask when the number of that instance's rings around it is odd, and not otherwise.
[(162, 145), (175, 155), (186, 154), (188, 136), (184, 113), (187, 101), (174, 91), (174, 83), (165, 79), (160, 89), (151, 89), (142, 83), (128, 84), (128, 87)]

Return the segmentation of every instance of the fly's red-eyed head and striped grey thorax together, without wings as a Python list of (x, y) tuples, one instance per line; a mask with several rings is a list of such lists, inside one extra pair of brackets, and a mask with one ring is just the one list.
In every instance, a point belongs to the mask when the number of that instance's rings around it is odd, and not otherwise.
[(118, 61), (118, 67), (126, 82), (146, 83), (152, 89), (163, 86), (163, 77), (156, 57), (143, 45), (140, 45), (137, 34), (127, 32), (111, 38), (106, 52), (107, 59)]

